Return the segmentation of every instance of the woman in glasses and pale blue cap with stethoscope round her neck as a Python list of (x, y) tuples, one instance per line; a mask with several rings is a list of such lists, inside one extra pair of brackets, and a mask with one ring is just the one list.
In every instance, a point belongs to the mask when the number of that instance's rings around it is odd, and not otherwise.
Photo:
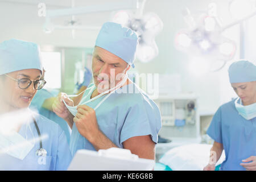
[(57, 123), (28, 109), (41, 79), (39, 47), (22, 40), (0, 43), (0, 169), (66, 170), (71, 152)]

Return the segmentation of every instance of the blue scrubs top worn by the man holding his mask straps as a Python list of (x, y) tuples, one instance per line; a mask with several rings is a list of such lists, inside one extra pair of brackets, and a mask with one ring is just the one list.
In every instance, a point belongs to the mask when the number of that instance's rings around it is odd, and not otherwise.
[[(82, 99), (90, 100), (90, 84), (85, 90)], [(132, 93), (131, 93), (132, 91)], [(90, 94), (89, 94), (90, 93)], [(98, 98), (87, 105), (94, 108), (105, 96)], [(100, 130), (112, 142), (123, 148), (123, 142), (131, 137), (150, 135), (152, 141), (158, 142), (158, 132), (162, 127), (158, 106), (137, 85), (129, 84), (119, 88), (96, 109), (96, 117)], [(71, 152), (77, 150), (95, 150), (93, 145), (82, 135), (75, 123), (71, 134)]]

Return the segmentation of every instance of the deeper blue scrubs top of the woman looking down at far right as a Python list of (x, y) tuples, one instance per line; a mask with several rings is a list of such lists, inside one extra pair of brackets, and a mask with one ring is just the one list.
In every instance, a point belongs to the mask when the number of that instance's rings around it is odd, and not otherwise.
[(226, 159), (221, 170), (245, 170), (242, 160), (256, 156), (256, 118), (243, 118), (234, 101), (218, 108), (207, 130), (212, 139), (223, 144)]

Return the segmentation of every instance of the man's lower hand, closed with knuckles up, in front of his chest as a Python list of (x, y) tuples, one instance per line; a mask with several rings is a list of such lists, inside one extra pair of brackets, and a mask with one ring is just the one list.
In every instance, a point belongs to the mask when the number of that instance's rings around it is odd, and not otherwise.
[(95, 110), (89, 106), (77, 106), (77, 114), (73, 121), (76, 123), (79, 133), (88, 139), (89, 142), (92, 142), (100, 133)]

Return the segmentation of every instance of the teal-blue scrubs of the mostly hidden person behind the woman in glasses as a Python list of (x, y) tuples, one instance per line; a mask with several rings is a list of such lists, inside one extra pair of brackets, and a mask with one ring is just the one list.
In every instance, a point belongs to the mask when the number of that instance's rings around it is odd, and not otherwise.
[(59, 92), (49, 92), (46, 89), (40, 89), (36, 92), (33, 100), (31, 101), (30, 108), (36, 109), (39, 114), (51, 119), (60, 125), (61, 129), (63, 129), (65, 136), (67, 137), (68, 143), (70, 141), (71, 129), (68, 126), (68, 123), (65, 122), (63, 118), (58, 117), (53, 111), (45, 109), (42, 107), (43, 103), (47, 98), (56, 97)]

